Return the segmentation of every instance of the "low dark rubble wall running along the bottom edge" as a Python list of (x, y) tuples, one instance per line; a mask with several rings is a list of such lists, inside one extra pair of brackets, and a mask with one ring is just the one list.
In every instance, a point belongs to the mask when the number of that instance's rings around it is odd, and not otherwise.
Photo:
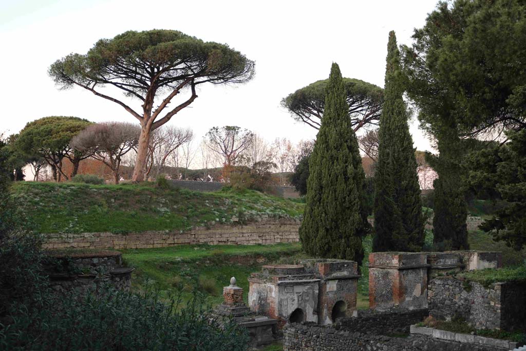
[(284, 330), (284, 351), (503, 351), (509, 348), (411, 334), (393, 337), (355, 332), (348, 328), (293, 324)]

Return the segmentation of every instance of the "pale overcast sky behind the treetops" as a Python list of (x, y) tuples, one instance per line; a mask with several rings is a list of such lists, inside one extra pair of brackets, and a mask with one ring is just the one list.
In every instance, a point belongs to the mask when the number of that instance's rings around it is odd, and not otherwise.
[[(90, 121), (137, 122), (122, 107), (81, 88), (59, 91), (47, 75), (69, 53), (85, 54), (100, 38), (128, 30), (176, 29), (227, 43), (256, 61), (256, 77), (239, 86), (200, 86), (199, 97), (170, 124), (200, 139), (210, 127), (238, 125), (268, 141), (313, 138), (280, 107), (282, 97), (329, 76), (383, 87), (388, 33), (410, 44), (437, 0), (361, 1), (136, 1), (17, 0), (0, 2), (4, 102), (0, 132), (16, 133), (36, 118), (63, 115)], [(126, 100), (120, 93), (118, 98)], [(181, 94), (179, 99), (184, 98)], [(117, 97), (117, 96), (116, 96)], [(128, 100), (139, 109), (137, 100)], [(430, 149), (411, 123), (414, 145)]]

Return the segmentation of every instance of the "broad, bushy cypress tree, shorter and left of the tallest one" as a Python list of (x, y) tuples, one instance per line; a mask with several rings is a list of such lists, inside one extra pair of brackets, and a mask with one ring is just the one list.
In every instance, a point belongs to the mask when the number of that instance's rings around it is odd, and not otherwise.
[(333, 63), (325, 113), (309, 161), (307, 205), (299, 235), (310, 255), (361, 264), (361, 238), (370, 226), (365, 173), (348, 109), (340, 68)]

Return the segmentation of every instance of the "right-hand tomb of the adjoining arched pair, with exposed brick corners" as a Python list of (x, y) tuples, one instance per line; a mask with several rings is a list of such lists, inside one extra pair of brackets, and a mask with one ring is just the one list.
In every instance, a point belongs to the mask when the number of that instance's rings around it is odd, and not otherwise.
[(356, 312), (358, 264), (349, 260), (307, 259), (301, 262), (308, 272), (320, 277), (318, 324), (327, 325), (337, 318)]

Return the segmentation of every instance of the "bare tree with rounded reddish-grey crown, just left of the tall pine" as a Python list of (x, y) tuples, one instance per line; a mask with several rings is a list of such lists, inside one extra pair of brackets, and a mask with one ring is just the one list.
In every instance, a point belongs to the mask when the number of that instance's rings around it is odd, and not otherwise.
[(123, 156), (137, 147), (140, 127), (131, 123), (105, 122), (88, 126), (76, 135), (72, 147), (91, 154), (112, 169), (115, 184), (119, 183), (119, 168)]

